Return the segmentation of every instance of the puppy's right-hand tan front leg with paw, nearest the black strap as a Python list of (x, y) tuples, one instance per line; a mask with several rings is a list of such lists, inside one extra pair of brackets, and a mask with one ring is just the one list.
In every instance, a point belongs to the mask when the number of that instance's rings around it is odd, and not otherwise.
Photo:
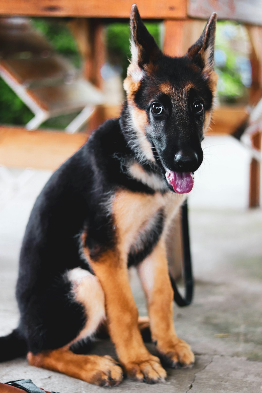
[(169, 279), (163, 237), (153, 252), (137, 267), (147, 296), (152, 340), (163, 359), (171, 366), (187, 367), (194, 362), (190, 346), (176, 335), (173, 322), (174, 292)]

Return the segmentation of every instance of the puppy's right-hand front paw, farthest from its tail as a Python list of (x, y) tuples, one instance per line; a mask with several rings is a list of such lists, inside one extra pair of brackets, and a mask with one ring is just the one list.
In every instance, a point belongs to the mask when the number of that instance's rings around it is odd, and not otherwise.
[(169, 344), (164, 348), (159, 348), (157, 346), (157, 349), (163, 359), (163, 362), (165, 362), (169, 367), (187, 368), (194, 364), (195, 356), (191, 351), (190, 345), (179, 338), (172, 343), (172, 345)]

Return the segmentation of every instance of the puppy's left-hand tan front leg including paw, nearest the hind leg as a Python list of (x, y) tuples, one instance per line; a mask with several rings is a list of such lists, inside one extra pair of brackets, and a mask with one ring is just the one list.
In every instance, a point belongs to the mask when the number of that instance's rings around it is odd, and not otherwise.
[(147, 351), (138, 329), (138, 312), (126, 264), (112, 250), (96, 261), (90, 260), (90, 256), (88, 259), (104, 290), (109, 334), (126, 374), (148, 383), (165, 380), (166, 372), (159, 358)]

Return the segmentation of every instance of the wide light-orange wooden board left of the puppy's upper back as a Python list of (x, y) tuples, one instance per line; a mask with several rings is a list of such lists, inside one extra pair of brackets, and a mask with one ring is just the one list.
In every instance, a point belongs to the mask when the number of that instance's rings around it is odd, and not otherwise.
[(0, 127), (0, 165), (55, 170), (87, 139), (85, 134)]

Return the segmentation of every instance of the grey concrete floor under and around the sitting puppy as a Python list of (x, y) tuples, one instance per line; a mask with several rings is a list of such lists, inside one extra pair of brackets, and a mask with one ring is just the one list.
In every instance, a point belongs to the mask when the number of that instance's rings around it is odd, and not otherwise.
[[(14, 178), (18, 175), (13, 171)], [(27, 171), (13, 186), (3, 188), (2, 183), (1, 189), (0, 182), (0, 335), (10, 332), (18, 320), (14, 297), (18, 252), (29, 211), (48, 177), (49, 172)], [(125, 380), (117, 387), (119, 393), (142, 388), (152, 393), (262, 391), (262, 210), (192, 208), (190, 230), (195, 298), (190, 307), (174, 306), (174, 320), (178, 335), (196, 354), (196, 365), (169, 369), (163, 384)], [(135, 274), (132, 288), (139, 312), (145, 315)], [(154, 351), (152, 345), (148, 348)], [(114, 356), (108, 341), (99, 342), (93, 352)], [(0, 364), (0, 382), (22, 378), (61, 393), (104, 391), (31, 367), (24, 359)]]

